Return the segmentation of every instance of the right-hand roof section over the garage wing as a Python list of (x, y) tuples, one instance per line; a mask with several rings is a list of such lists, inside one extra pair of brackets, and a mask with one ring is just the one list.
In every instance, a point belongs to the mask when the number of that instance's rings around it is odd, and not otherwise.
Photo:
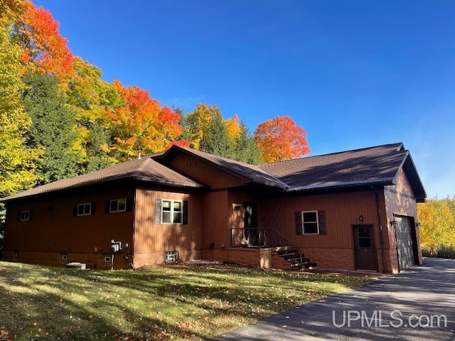
[(352, 185), (393, 185), (405, 166), (416, 197), (425, 197), (409, 151), (403, 144), (386, 144), (261, 166), (289, 185), (288, 191)]

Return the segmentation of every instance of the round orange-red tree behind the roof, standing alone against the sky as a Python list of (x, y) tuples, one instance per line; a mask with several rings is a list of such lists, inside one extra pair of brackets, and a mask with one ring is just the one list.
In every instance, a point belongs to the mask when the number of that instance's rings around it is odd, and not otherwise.
[(266, 163), (300, 158), (310, 151), (306, 131), (291, 117), (277, 116), (258, 124), (254, 136)]

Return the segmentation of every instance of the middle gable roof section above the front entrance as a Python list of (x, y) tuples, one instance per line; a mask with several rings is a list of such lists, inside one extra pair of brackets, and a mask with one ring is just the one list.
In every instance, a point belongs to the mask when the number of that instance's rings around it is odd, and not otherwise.
[(286, 183), (283, 183), (282, 180), (279, 180), (274, 175), (267, 173), (267, 171), (264, 171), (259, 166), (231, 160), (230, 158), (223, 158), (221, 156), (205, 153), (203, 151), (196, 151), (192, 148), (172, 146), (172, 148), (168, 149), (168, 151), (165, 153), (155, 154), (151, 157), (157, 161), (166, 161), (166, 159), (172, 158), (173, 154), (177, 153), (178, 151), (183, 151), (183, 153), (196, 156), (204, 162), (208, 162), (213, 166), (223, 169), (223, 171), (228, 171), (228, 173), (241, 175), (244, 178), (250, 179), (252, 183), (258, 183), (261, 185), (267, 185), (281, 189), (286, 189), (289, 187)]

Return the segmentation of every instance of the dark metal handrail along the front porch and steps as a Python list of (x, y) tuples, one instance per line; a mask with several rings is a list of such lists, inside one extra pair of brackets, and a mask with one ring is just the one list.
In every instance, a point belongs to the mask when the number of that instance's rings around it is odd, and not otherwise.
[[(272, 236), (267, 236), (267, 232), (272, 232)], [(276, 234), (276, 236), (273, 236)], [(252, 247), (282, 247), (284, 244), (289, 245), (299, 251), (300, 261), (301, 247), (291, 242), (287, 237), (272, 227), (255, 227), (255, 228), (231, 228), (230, 245), (231, 247), (252, 246)]]

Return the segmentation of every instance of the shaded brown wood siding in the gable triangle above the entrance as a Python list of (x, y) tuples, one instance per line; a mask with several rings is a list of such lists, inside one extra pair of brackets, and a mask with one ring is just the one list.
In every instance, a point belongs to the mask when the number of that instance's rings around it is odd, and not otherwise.
[(187, 175), (189, 178), (210, 186), (210, 188), (230, 188), (242, 185), (240, 177), (236, 177), (219, 168), (210, 166), (193, 156), (178, 154), (168, 166)]

